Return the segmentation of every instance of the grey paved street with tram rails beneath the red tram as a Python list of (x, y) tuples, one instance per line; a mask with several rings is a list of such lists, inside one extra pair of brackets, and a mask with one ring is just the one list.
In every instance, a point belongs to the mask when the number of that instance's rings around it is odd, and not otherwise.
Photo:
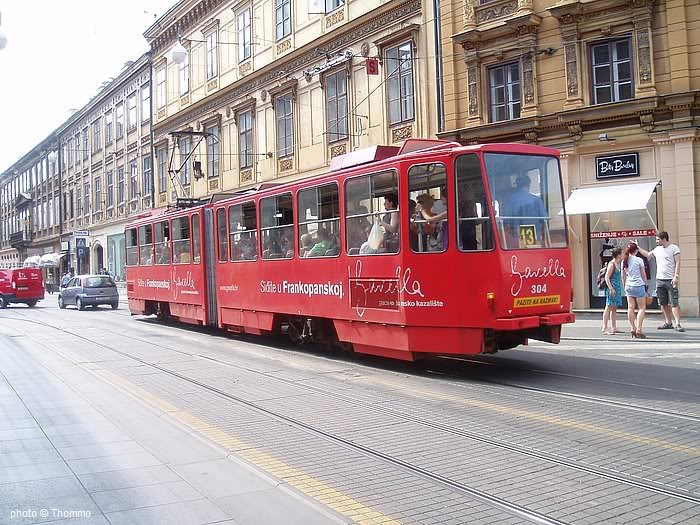
[(582, 319), (558, 346), (406, 364), (49, 298), (0, 311), (0, 350), (109, 382), (347, 523), (673, 524), (700, 523), (693, 328)]

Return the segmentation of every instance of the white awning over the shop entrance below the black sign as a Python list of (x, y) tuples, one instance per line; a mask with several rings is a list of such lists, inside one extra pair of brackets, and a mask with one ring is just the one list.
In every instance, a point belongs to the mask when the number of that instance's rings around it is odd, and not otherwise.
[(643, 210), (647, 207), (656, 184), (643, 182), (580, 188), (571, 192), (564, 208), (567, 215)]

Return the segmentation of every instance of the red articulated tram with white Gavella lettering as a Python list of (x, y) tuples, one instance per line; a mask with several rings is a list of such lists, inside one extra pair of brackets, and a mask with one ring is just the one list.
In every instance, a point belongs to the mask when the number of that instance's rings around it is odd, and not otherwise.
[(414, 360), (559, 342), (556, 150), (408, 140), (126, 227), (132, 314)]

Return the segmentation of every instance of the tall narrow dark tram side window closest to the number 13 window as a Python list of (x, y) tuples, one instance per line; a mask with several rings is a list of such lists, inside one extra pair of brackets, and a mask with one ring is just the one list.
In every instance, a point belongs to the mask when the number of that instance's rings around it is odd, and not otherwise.
[(493, 229), (479, 157), (462, 155), (455, 161), (457, 186), (457, 245), (462, 251), (493, 250)]

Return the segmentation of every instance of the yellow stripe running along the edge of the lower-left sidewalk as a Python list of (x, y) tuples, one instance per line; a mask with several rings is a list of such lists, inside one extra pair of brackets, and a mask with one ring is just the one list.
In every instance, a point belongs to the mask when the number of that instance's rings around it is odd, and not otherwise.
[(113, 385), (118, 386), (130, 394), (142, 399), (149, 405), (152, 405), (162, 412), (167, 413), (168, 416), (174, 418), (176, 421), (191, 428), (192, 430), (199, 432), (217, 445), (234, 452), (237, 457), (248, 461), (249, 463), (278, 479), (284, 480), (296, 490), (303, 492), (320, 503), (323, 503), (337, 513), (351, 518), (355, 523), (360, 525), (400, 525), (399, 521), (372, 510), (371, 508), (354, 500), (350, 496), (347, 496), (346, 494), (329, 487), (316, 478), (307, 475), (303, 471), (291, 467), (265, 452), (255, 449), (248, 443), (236, 438), (235, 436), (228, 434), (214, 425), (193, 416), (189, 412), (172, 405), (164, 399), (151, 394), (144, 388), (137, 386), (108, 370), (101, 369), (89, 371), (99, 376), (103, 380), (112, 383)]

